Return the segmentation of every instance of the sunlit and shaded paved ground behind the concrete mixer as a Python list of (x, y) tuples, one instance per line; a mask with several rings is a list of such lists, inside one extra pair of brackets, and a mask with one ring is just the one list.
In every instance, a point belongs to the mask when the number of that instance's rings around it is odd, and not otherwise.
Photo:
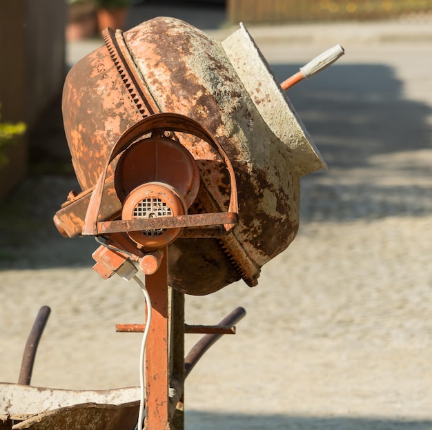
[[(187, 428), (432, 429), (430, 22), (250, 30), (281, 81), (328, 46), (346, 48), (289, 93), (329, 169), (304, 178), (300, 233), (259, 286), (188, 297), (190, 323), (238, 305), (248, 315), (190, 375)], [(91, 43), (69, 46), (70, 61)], [(50, 223), (74, 186), (32, 177), (1, 204), (0, 380), (17, 380), (48, 304), (33, 384), (137, 384), (139, 337), (113, 326), (141, 320), (141, 293), (100, 281), (92, 241)]]

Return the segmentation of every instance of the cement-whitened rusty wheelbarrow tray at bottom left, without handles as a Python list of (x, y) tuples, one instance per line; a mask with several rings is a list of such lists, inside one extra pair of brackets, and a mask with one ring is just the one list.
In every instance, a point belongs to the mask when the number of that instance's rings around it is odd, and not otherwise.
[(139, 387), (74, 391), (0, 383), (0, 430), (132, 430)]

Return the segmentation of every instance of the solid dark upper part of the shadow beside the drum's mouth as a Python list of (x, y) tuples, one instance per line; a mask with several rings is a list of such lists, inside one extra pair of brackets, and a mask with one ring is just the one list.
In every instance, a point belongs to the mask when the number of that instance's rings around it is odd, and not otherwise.
[[(284, 79), (301, 66), (271, 68)], [(391, 67), (336, 64), (288, 90), (288, 97), (331, 168), (369, 166), (374, 155), (432, 147), (424, 124), (431, 107), (405, 99)]]

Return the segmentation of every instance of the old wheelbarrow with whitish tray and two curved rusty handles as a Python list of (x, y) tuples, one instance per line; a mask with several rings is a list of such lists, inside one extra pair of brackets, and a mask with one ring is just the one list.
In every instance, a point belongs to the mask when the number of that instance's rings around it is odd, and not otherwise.
[[(37, 346), (49, 315), (50, 308), (42, 306), (28, 336), (18, 383), (0, 383), (0, 430), (135, 429), (139, 415), (140, 387), (66, 390), (30, 385)], [(238, 307), (217, 326), (207, 329), (213, 333), (204, 335), (184, 359), (184, 378), (223, 334), (235, 333), (233, 324), (244, 315), (246, 311)], [(126, 331), (120, 325), (117, 329)], [(195, 330), (193, 326), (185, 326), (186, 332), (205, 330), (202, 326)], [(129, 327), (128, 331), (139, 331), (139, 327)], [(173, 399), (175, 400), (177, 399)]]

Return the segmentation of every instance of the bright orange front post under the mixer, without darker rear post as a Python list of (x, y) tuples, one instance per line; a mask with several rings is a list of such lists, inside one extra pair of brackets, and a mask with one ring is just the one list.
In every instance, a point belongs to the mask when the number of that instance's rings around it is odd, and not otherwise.
[(159, 270), (146, 275), (153, 316), (146, 348), (145, 430), (169, 430), (168, 248)]

